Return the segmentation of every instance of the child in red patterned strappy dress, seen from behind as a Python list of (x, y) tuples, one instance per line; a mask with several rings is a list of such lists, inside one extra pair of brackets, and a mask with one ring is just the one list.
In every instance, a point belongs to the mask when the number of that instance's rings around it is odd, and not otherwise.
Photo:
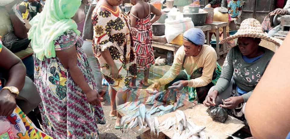
[[(153, 5), (143, 2), (142, 0), (131, 0), (134, 5), (130, 11), (131, 27), (135, 27), (138, 33), (131, 36), (132, 45), (136, 52), (137, 69), (144, 71), (144, 79), (140, 81), (144, 86), (149, 86), (148, 75), (149, 67), (155, 63), (154, 52), (152, 47), (152, 23), (157, 21), (162, 15), (161, 11)], [(150, 20), (151, 12), (154, 17)], [(133, 79), (131, 88), (136, 89), (136, 79)]]

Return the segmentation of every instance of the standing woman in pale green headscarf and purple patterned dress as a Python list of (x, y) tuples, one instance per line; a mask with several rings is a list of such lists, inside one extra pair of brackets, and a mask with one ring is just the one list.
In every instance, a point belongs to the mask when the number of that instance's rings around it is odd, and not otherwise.
[(30, 22), (43, 129), (55, 139), (97, 139), (97, 124), (105, 124), (102, 98), (81, 49), (83, 40), (70, 19), (80, 4), (80, 0), (47, 0)]

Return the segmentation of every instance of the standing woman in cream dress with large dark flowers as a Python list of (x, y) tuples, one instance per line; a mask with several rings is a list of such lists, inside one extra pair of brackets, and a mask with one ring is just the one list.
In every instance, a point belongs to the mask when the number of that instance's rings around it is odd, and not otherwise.
[(130, 27), (130, 19), (118, 7), (121, 3), (122, 0), (100, 0), (92, 14), (93, 51), (109, 83), (110, 116), (117, 115), (116, 129), (120, 128), (121, 118), (116, 105), (125, 102), (129, 79), (135, 78), (137, 73), (135, 52), (130, 45), (130, 32), (135, 35), (137, 31)]

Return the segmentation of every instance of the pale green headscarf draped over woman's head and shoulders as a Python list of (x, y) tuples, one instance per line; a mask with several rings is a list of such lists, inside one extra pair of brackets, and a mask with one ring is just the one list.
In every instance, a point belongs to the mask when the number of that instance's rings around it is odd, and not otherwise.
[(53, 41), (68, 29), (80, 34), (76, 22), (70, 19), (80, 5), (81, 0), (47, 0), (43, 11), (29, 22), (28, 38), (39, 60), (55, 57)]

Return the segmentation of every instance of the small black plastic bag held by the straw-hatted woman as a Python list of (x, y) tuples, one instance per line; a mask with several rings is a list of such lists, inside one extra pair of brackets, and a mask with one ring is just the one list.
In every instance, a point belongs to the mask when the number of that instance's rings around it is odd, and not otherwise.
[(213, 120), (221, 122), (221, 123), (224, 123), (229, 117), (227, 115), (227, 109), (221, 106), (212, 106), (212, 107), (209, 107), (206, 111), (208, 112), (209, 116), (211, 116)]

